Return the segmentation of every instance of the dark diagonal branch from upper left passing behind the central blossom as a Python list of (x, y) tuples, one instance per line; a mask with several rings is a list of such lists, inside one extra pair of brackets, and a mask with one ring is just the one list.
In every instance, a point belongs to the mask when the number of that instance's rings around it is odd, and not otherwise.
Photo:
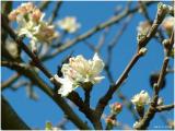
[[(22, 49), (32, 58), (33, 63), (50, 80), (50, 82), (52, 84), (55, 84), (56, 86), (60, 86), (60, 83), (58, 83), (57, 81), (54, 80), (52, 74), (44, 67), (44, 64), (40, 62), (40, 60), (38, 59), (38, 57), (33, 53), (27, 46), (22, 41), (21, 38), (19, 38), (15, 33), (11, 29), (11, 27), (9, 27), (5, 23), (4, 23), (4, 16), (2, 15), (2, 27), (4, 27), (8, 33), (10, 34), (10, 36), (16, 41), (16, 44), (19, 44)], [(60, 95), (58, 95), (60, 97)], [(94, 124), (95, 129), (102, 129), (102, 123), (100, 122), (98, 119), (96, 119), (95, 114), (92, 111), (91, 108), (89, 108), (88, 105), (85, 105), (82, 100), (81, 97), (79, 96), (78, 93), (72, 92), (68, 98), (70, 100), (72, 100), (78, 107), (79, 109), (86, 116), (86, 118), (89, 118), (92, 123)], [(85, 108), (84, 108), (85, 107)]]

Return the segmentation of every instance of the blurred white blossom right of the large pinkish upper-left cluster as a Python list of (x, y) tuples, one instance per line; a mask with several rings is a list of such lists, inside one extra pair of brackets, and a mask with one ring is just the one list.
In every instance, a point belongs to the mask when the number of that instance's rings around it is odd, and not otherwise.
[(58, 21), (58, 26), (68, 33), (74, 33), (80, 28), (80, 24), (73, 16), (67, 16), (63, 20)]

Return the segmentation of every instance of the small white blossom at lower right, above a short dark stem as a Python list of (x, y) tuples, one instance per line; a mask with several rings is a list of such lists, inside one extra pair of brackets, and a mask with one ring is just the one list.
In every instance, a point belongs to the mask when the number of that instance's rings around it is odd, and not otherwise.
[(136, 106), (144, 106), (150, 104), (150, 96), (145, 91), (141, 91), (139, 94), (132, 97), (131, 102)]

